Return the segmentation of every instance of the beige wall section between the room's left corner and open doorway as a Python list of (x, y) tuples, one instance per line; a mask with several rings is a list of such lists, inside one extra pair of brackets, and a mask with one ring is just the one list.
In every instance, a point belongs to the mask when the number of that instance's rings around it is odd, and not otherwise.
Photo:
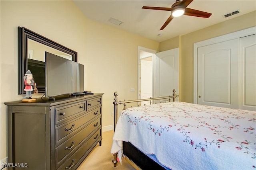
[(88, 21), (87, 28), (86, 90), (105, 93), (103, 126), (113, 125), (114, 92), (120, 99), (137, 98), (138, 46), (158, 50), (159, 43), (95, 21)]

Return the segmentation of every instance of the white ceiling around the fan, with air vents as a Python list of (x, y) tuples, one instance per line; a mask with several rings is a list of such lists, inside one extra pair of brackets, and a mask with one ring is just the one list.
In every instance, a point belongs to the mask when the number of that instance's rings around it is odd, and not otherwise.
[[(188, 8), (212, 13), (210, 18), (180, 16), (159, 30), (170, 16), (169, 11), (142, 9), (142, 6), (168, 7), (175, 0), (73, 0), (90, 20), (129, 31), (155, 41), (164, 41), (256, 10), (256, 0), (194, 0)], [(239, 14), (223, 15), (240, 10)], [(108, 20), (123, 21), (115, 25)], [(252, 21), (256, 22), (256, 21)], [(238, 23), (239, 24), (239, 23)], [(162, 34), (161, 37), (158, 34)]]

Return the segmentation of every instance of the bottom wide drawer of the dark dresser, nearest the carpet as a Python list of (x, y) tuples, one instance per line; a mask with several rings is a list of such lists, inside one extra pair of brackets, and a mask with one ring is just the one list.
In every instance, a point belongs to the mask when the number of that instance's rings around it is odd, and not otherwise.
[(87, 156), (100, 139), (102, 139), (101, 129), (96, 131), (96, 133), (94, 133), (88, 141), (86, 141), (72, 156), (70, 156), (68, 160), (58, 168), (58, 170), (73, 169), (74, 167), (77, 168), (77, 162), (83, 156)]

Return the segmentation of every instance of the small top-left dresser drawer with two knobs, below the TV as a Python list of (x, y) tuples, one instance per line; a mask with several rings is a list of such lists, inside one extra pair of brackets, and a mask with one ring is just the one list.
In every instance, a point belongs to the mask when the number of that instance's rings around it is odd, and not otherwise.
[(85, 102), (55, 108), (56, 124), (66, 121), (76, 113), (86, 110)]

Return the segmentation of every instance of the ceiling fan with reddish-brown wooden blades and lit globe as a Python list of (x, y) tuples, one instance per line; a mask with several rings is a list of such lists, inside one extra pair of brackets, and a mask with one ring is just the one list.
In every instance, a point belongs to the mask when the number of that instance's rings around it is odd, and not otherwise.
[(170, 21), (174, 17), (186, 15), (186, 16), (196, 16), (196, 17), (203, 17), (209, 18), (212, 14), (208, 12), (198, 11), (194, 9), (187, 8), (187, 6), (193, 0), (176, 0), (174, 4), (172, 4), (172, 8), (165, 8), (165, 7), (152, 7), (152, 6), (143, 6), (142, 9), (149, 9), (149, 10), (162, 10), (162, 11), (171, 11), (170, 17), (166, 20), (164, 25), (160, 28), (160, 30), (164, 29)]

